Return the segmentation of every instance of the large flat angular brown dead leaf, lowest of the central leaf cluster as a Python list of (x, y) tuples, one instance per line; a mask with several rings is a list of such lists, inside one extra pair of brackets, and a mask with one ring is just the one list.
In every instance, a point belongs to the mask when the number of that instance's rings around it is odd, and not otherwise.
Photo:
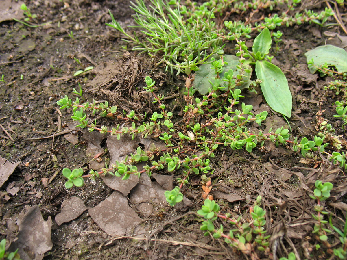
[(136, 212), (129, 207), (127, 198), (115, 191), (94, 208), (88, 209), (94, 222), (112, 236), (137, 235), (133, 229), (141, 223)]

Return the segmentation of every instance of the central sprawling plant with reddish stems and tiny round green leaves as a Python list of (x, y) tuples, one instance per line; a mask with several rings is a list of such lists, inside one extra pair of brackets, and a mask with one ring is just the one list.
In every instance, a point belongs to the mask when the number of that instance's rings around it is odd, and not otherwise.
[[(225, 76), (230, 76), (230, 74), (232, 74), (232, 70), (229, 70)], [(257, 145), (263, 146), (264, 142), (268, 140), (274, 142), (277, 146), (292, 144), (293, 150), (301, 150), (304, 157), (312, 157), (314, 151), (318, 149), (322, 153), (327, 153), (324, 150), (327, 144), (323, 144), (324, 139), (321, 137), (316, 136), (312, 141), (304, 137), (298, 142), (297, 137), (293, 141), (289, 140), (289, 130), (284, 129), (284, 127), (278, 128), (276, 131), (270, 129), (268, 133), (262, 131), (255, 133), (248, 130), (248, 123), (256, 122), (261, 125), (266, 119), (267, 112), (263, 111), (254, 115), (251, 112), (252, 105), (244, 103), (241, 104), (240, 110), (235, 109), (235, 106), (239, 104), (239, 99), (243, 97), (241, 90), (235, 88), (238, 81), (241, 80), (242, 77), (240, 79), (230, 79), (229, 77), (218, 76), (213, 83), (211, 82), (210, 93), (200, 99), (193, 97), (195, 90), (191, 87), (192, 79), (187, 79), (184, 93), (187, 104), (183, 115), (183, 131), (171, 121), (173, 114), (168, 112), (165, 104), (162, 103), (164, 96), (155, 94), (155, 81), (150, 77), (146, 77), (147, 86), (144, 88), (152, 94), (152, 102), (158, 104), (160, 113), (154, 112), (152, 116), (149, 116), (149, 122), (140, 122), (138, 120), (140, 117), (136, 116), (134, 111), (127, 115), (122, 114), (117, 111), (116, 106), (109, 106), (108, 102), (96, 104), (94, 101), (93, 103), (79, 104), (78, 98), (75, 102), (72, 102), (67, 96), (61, 98), (57, 104), (61, 108), (73, 108), (71, 118), (79, 122), (79, 127), (87, 127), (89, 131), (98, 130), (100, 133), (108, 132), (117, 136), (117, 139), (120, 139), (121, 135), (129, 135), (132, 138), (135, 135), (144, 138), (150, 135), (159, 136), (166, 146), (166, 149), (161, 151), (154, 146), (147, 151), (138, 147), (136, 152), (127, 156), (123, 162), (116, 161), (110, 167), (106, 165), (100, 172), (90, 170), (89, 174), (82, 176), (81, 170), (75, 173), (74, 171), (70, 173), (70, 170), (69, 172), (65, 170), (64, 175), (68, 178), (67, 187), (75, 182), (81, 185), (83, 177), (95, 178), (99, 177), (100, 174), (122, 176), (122, 179), (126, 180), (130, 174), (139, 176), (141, 173), (146, 172), (151, 175), (153, 171), (161, 171), (164, 168), (169, 172), (182, 169), (180, 172), (182, 177), (177, 178), (178, 188), (176, 187), (173, 191), (166, 193), (168, 202), (175, 205), (181, 197), (181, 194), (177, 191), (188, 183), (189, 175), (210, 172), (210, 158), (215, 156), (215, 150), (220, 147), (228, 146), (234, 150), (245, 148), (248, 152), (252, 152)], [(220, 112), (222, 111), (221, 104), (224, 105), (224, 113)], [(94, 115), (96, 111), (99, 111), (102, 116), (110, 113), (117, 115), (118, 118), (128, 122), (131, 126), (120, 127), (119, 123), (116, 127), (108, 130), (105, 126), (98, 127), (96, 120), (94, 123), (88, 124), (88, 111), (91, 111), (91, 115)], [(205, 115), (208, 120), (199, 123), (199, 115)], [(161, 153), (161, 156), (159, 159), (154, 159), (154, 154), (158, 152)], [(143, 170), (138, 170), (135, 165), (137, 162), (147, 162), (147, 164)]]

